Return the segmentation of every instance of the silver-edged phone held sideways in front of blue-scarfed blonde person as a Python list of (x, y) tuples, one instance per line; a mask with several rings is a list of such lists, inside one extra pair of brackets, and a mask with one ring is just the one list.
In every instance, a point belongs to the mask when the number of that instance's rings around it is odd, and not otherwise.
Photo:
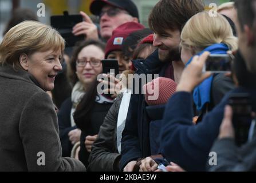
[(233, 57), (229, 54), (210, 54), (203, 71), (211, 73), (228, 73), (231, 71)]

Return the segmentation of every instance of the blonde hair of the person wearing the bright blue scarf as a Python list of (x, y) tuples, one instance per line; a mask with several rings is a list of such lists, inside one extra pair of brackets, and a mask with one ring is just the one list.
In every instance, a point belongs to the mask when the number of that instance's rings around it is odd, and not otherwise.
[(227, 19), (221, 14), (210, 17), (207, 11), (200, 12), (188, 20), (180, 35), (180, 45), (192, 47), (196, 52), (215, 43), (225, 43), (230, 50), (238, 49), (238, 39)]

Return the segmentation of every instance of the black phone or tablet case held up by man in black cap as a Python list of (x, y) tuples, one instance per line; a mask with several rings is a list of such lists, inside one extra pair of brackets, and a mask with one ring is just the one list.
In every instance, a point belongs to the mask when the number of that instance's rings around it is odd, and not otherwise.
[(65, 39), (66, 47), (72, 47), (76, 42), (84, 40), (84, 35), (75, 36), (72, 33), (74, 25), (82, 21), (82, 15), (69, 15), (68, 11), (64, 11), (64, 15), (50, 17), (50, 25)]

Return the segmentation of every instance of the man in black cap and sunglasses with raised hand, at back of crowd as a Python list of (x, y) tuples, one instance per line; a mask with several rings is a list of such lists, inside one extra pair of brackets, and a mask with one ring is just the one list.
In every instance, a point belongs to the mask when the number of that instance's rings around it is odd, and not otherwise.
[[(94, 0), (90, 11), (100, 17), (100, 35), (107, 41), (113, 30), (126, 22), (139, 22), (139, 13), (131, 0)], [(99, 39), (97, 27), (84, 12), (80, 12), (84, 22), (73, 27), (74, 35), (85, 35), (86, 38)]]

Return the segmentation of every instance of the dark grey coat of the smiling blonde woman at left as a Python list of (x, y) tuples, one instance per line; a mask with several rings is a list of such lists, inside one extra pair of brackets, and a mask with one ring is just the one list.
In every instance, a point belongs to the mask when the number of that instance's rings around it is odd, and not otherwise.
[(0, 171), (85, 171), (61, 156), (53, 102), (31, 74), (0, 66), (0, 93)]

